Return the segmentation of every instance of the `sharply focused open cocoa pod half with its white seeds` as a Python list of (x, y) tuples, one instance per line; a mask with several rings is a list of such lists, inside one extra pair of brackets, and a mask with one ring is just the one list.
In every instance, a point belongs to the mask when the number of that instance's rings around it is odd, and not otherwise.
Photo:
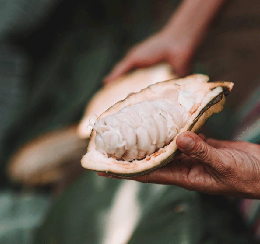
[(97, 118), (82, 166), (132, 177), (166, 165), (178, 134), (198, 132), (223, 109), (233, 83), (208, 81), (194, 74), (158, 82), (114, 104)]

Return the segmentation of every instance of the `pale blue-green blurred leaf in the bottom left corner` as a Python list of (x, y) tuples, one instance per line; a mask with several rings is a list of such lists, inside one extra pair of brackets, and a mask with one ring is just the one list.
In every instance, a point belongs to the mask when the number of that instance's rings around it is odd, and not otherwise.
[(31, 244), (33, 231), (42, 223), (49, 207), (46, 195), (0, 193), (0, 243)]

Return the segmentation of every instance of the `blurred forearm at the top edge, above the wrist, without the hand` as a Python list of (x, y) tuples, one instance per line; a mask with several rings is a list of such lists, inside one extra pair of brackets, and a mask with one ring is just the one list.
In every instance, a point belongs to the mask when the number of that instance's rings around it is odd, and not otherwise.
[(170, 18), (163, 33), (180, 33), (187, 41), (199, 44), (206, 29), (225, 0), (184, 0)]

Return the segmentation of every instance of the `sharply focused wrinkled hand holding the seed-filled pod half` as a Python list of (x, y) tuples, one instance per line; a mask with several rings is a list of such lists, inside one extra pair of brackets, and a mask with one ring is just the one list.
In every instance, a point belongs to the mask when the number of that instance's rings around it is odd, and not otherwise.
[(260, 199), (260, 145), (206, 139), (190, 131), (181, 133), (176, 144), (183, 152), (177, 159), (152, 173), (130, 179), (172, 184), (208, 194)]

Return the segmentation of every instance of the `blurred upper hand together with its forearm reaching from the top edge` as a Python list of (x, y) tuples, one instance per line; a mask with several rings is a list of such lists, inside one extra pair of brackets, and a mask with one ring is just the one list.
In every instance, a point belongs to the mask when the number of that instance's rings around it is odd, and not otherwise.
[(224, 0), (184, 0), (161, 31), (130, 49), (104, 79), (112, 82), (127, 71), (168, 62), (179, 76), (188, 74), (190, 61)]

